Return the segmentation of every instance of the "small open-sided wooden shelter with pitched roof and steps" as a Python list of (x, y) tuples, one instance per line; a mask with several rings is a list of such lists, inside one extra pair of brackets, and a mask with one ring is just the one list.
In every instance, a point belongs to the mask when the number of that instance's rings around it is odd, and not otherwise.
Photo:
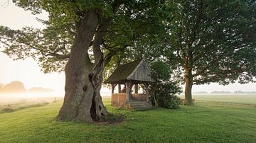
[[(134, 62), (120, 65), (105, 81), (112, 85), (112, 105), (128, 108), (149, 108), (149, 82), (151, 69), (146, 59), (139, 59)], [(124, 84), (123, 90), (121, 85)], [(146, 93), (138, 93), (138, 84), (144, 84)], [(118, 93), (114, 93), (114, 87), (118, 85)], [(132, 87), (134, 86), (134, 93)]]

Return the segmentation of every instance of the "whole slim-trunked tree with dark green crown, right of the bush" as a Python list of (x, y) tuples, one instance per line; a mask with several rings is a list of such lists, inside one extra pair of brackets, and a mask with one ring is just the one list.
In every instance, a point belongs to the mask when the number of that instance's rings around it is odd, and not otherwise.
[(164, 11), (166, 57), (183, 75), (187, 105), (193, 84), (254, 81), (255, 1), (170, 0)]

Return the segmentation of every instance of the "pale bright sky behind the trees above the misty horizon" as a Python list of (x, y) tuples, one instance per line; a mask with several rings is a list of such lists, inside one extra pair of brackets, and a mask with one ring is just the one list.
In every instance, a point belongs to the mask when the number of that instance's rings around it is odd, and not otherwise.
[[(14, 6), (11, 1), (9, 4), (5, 4), (6, 1), (8, 0), (0, 0), (0, 25), (12, 29), (21, 29), (24, 26), (43, 28), (43, 25), (36, 21), (36, 17), (46, 19), (48, 18), (47, 13), (34, 16), (31, 12)], [(10, 81), (21, 81), (27, 89), (41, 86), (52, 88), (58, 93), (64, 93), (65, 74), (64, 72), (43, 74), (37, 62), (32, 58), (14, 61), (0, 52), (0, 84), (8, 84)], [(193, 92), (198, 91), (256, 91), (256, 84), (236, 83), (228, 86), (218, 84), (193, 86)]]

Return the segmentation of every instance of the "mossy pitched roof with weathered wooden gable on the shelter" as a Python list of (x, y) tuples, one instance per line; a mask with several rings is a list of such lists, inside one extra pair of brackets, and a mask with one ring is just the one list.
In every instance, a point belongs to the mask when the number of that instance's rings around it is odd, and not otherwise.
[(124, 84), (130, 80), (137, 83), (152, 82), (151, 69), (145, 59), (139, 59), (134, 62), (120, 65), (105, 81), (107, 84)]

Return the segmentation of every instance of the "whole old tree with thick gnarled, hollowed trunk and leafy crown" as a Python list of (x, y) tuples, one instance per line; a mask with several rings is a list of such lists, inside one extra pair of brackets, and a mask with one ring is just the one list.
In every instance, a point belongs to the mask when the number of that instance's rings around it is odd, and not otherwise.
[[(38, 59), (45, 72), (65, 67), (65, 98), (59, 120), (98, 121), (109, 114), (102, 103), (102, 71), (113, 55), (132, 46), (163, 1), (14, 1), (34, 14), (46, 11), (43, 30), (0, 27), (4, 52), (14, 59)], [(138, 22), (140, 21), (140, 22)], [(144, 30), (145, 31), (145, 30)], [(136, 35), (136, 36), (134, 36)], [(128, 48), (129, 49), (129, 48)], [(64, 66), (65, 65), (65, 66)]]

